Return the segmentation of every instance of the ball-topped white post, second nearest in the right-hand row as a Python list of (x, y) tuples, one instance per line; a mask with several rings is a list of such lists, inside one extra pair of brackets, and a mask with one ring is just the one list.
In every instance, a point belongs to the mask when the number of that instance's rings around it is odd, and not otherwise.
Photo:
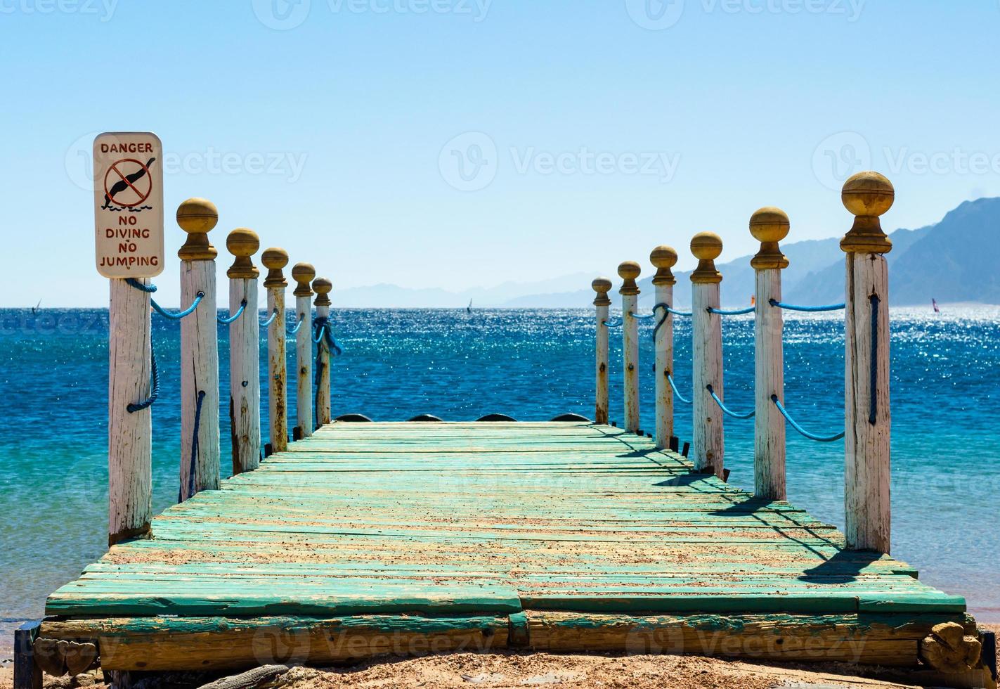
[(750, 218), (750, 234), (760, 251), (750, 261), (756, 278), (754, 315), (754, 493), (768, 500), (784, 500), (785, 419), (771, 400), (785, 403), (784, 326), (780, 308), (781, 271), (788, 259), (778, 242), (788, 236), (788, 216), (780, 208), (761, 208)]

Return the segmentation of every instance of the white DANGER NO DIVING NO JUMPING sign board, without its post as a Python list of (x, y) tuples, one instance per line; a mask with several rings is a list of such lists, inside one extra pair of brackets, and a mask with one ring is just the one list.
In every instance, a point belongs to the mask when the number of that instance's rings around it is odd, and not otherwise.
[(94, 139), (97, 272), (152, 278), (163, 272), (163, 144), (151, 132)]

